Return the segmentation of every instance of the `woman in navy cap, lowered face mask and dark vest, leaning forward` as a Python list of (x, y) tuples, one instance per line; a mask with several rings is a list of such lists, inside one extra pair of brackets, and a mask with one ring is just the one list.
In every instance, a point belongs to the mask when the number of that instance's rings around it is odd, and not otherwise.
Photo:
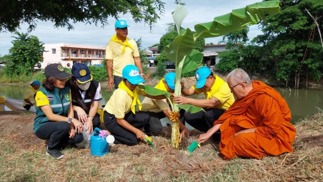
[(97, 113), (99, 101), (102, 99), (100, 83), (93, 80), (88, 67), (76, 63), (72, 67), (72, 78), (67, 86), (71, 88), (74, 117), (83, 124), (88, 132), (100, 126), (100, 115)]

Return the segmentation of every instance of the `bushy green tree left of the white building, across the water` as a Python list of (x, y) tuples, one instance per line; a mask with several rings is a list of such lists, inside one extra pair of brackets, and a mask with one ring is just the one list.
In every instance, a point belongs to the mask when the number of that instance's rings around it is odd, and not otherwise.
[(34, 71), (34, 66), (43, 62), (44, 52), (43, 42), (36, 36), (29, 36), (28, 33), (15, 32), (17, 37), (11, 41), (13, 46), (9, 49), (9, 59), (4, 68), (4, 73), (12, 75), (30, 75)]

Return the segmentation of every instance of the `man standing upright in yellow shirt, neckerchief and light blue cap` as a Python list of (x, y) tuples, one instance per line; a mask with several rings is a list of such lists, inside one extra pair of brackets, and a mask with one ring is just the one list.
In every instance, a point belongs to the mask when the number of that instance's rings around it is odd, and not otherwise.
[(125, 20), (116, 21), (114, 25), (116, 34), (105, 47), (106, 71), (109, 78), (108, 89), (110, 91), (113, 85), (115, 85), (115, 89), (118, 89), (122, 81), (122, 70), (127, 65), (136, 65), (140, 76), (144, 77), (137, 43), (127, 37), (128, 26)]

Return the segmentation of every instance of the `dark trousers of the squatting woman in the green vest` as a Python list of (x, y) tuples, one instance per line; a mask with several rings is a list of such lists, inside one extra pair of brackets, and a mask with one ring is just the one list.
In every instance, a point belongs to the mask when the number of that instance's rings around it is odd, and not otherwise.
[(78, 144), (83, 140), (81, 133), (76, 133), (74, 138), (69, 138), (70, 123), (64, 121), (49, 121), (41, 125), (36, 131), (36, 136), (48, 141), (48, 149), (56, 149), (60, 143)]

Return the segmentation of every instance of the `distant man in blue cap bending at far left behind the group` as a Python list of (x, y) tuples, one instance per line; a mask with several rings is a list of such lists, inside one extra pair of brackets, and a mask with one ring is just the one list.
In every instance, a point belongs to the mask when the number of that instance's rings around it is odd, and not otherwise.
[(34, 95), (38, 91), (41, 84), (38, 80), (35, 80), (33, 83), (30, 84), (30, 86), (31, 87), (29, 87), (23, 94), (23, 107), (26, 110), (29, 110), (30, 107), (36, 103)]

